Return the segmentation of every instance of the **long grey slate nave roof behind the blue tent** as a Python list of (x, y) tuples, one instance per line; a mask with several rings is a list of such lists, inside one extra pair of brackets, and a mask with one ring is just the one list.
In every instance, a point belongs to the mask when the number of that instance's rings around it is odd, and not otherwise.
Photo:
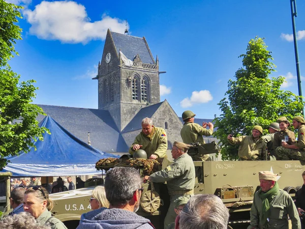
[[(127, 152), (128, 146), (109, 111), (99, 109), (40, 105), (44, 112), (58, 124), (82, 141), (88, 141), (90, 132), (91, 145), (104, 152)], [(37, 120), (42, 121), (39, 115)]]

